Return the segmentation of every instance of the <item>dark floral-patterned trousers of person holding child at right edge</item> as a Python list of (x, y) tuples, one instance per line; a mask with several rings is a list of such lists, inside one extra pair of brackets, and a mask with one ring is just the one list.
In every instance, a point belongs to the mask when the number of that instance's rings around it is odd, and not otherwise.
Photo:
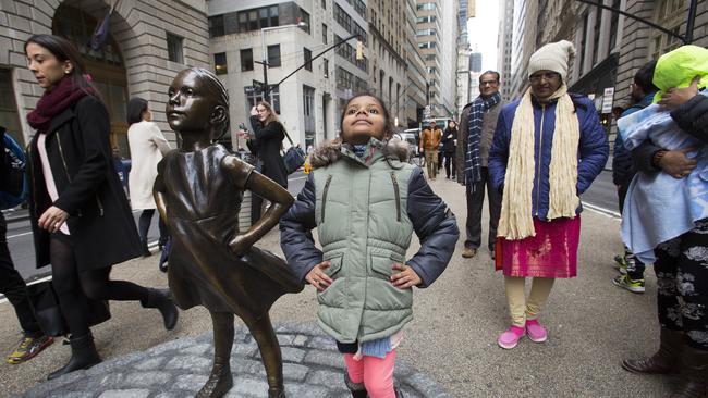
[(657, 261), (657, 304), (659, 323), (683, 331), (688, 345), (708, 350), (708, 219), (659, 245)]

